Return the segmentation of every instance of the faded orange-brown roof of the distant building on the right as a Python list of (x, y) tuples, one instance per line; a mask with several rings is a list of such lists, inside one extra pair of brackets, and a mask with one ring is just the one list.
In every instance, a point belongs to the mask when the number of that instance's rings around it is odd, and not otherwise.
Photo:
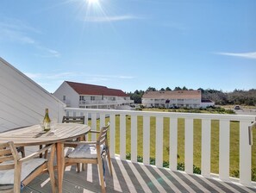
[(143, 98), (158, 98), (158, 99), (201, 99), (200, 90), (173, 90), (173, 91), (147, 91), (142, 96)]

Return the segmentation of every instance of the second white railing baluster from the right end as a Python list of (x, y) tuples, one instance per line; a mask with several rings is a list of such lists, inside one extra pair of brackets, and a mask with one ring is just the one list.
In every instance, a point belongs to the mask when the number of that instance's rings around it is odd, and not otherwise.
[(222, 180), (229, 180), (229, 130), (228, 120), (220, 121), (220, 160), (219, 173)]

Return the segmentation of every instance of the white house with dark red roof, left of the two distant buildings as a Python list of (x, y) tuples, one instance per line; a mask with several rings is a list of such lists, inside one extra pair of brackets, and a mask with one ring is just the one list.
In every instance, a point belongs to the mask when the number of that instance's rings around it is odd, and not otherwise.
[(122, 90), (65, 81), (53, 93), (67, 107), (83, 109), (128, 109), (133, 100)]

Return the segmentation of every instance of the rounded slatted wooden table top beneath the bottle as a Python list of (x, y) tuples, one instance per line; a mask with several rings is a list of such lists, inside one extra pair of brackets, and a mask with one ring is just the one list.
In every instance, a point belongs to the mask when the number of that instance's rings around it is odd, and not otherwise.
[(78, 123), (57, 123), (47, 133), (40, 125), (18, 128), (0, 134), (0, 143), (13, 141), (16, 146), (37, 146), (75, 139), (91, 130)]

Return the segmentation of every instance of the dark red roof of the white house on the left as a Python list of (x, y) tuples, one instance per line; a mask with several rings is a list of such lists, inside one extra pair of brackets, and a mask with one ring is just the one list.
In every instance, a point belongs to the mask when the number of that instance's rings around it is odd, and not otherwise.
[(106, 86), (66, 81), (79, 95), (128, 96), (122, 90), (109, 89)]

